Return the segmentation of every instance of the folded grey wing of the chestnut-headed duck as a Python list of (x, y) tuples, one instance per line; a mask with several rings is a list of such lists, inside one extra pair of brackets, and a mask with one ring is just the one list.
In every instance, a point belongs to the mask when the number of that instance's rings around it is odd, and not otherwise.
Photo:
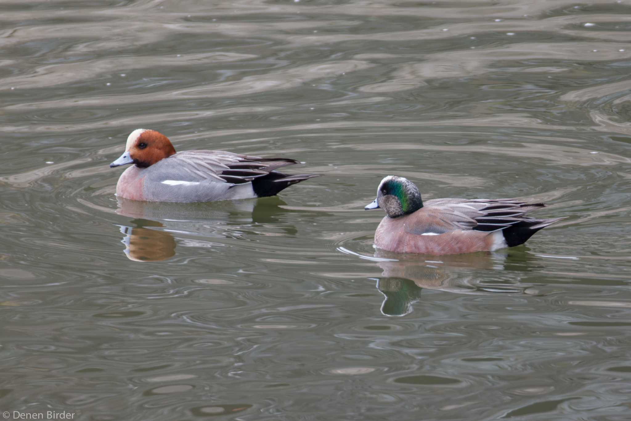
[[(261, 158), (227, 151), (192, 150), (178, 152), (158, 162), (163, 177), (179, 176), (183, 181), (242, 184), (270, 172), (294, 165), (290, 158)], [(186, 179), (186, 180), (185, 180)]]

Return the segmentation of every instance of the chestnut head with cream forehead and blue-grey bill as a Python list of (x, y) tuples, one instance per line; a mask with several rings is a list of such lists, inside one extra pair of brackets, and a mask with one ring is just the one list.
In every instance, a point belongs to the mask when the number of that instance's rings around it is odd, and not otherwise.
[(110, 168), (135, 163), (146, 168), (175, 153), (171, 141), (155, 130), (136, 129), (127, 136), (127, 145), (120, 158), (110, 163)]

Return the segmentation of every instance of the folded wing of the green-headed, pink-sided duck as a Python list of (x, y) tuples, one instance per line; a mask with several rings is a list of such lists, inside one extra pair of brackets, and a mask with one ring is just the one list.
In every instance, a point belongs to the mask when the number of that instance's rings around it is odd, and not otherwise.
[(493, 232), (519, 222), (534, 222), (524, 215), (543, 203), (517, 199), (433, 199), (417, 211), (414, 222), (406, 226), (411, 234), (444, 234), (455, 230)]

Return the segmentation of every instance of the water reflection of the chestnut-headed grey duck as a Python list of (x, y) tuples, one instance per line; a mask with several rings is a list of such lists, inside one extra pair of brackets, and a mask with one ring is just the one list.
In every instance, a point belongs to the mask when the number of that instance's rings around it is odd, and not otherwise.
[[(171, 232), (187, 238), (189, 246), (208, 245), (208, 240), (195, 240), (200, 236), (227, 238), (237, 237), (244, 232), (244, 225), (252, 223), (275, 224), (286, 205), (278, 197), (213, 203), (160, 203), (143, 202), (124, 198), (118, 199), (116, 213), (129, 218), (132, 225), (117, 225), (125, 244), (125, 254), (133, 261), (164, 261), (175, 256), (177, 242)], [(263, 225), (262, 225), (263, 226)], [(261, 227), (262, 227), (261, 226)], [(293, 225), (283, 224), (278, 232), (254, 232), (258, 235), (295, 235)], [(170, 231), (170, 232), (169, 232)], [(191, 237), (193, 239), (191, 239)]]

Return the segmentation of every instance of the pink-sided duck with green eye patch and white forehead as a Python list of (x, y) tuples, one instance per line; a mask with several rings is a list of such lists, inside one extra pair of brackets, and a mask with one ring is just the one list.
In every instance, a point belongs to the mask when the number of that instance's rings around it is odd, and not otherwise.
[(544, 206), (517, 199), (432, 199), (423, 203), (413, 182), (389, 175), (379, 184), (375, 201), (365, 209), (386, 211), (375, 232), (375, 247), (440, 255), (524, 244), (541, 228), (563, 219), (524, 216)]

